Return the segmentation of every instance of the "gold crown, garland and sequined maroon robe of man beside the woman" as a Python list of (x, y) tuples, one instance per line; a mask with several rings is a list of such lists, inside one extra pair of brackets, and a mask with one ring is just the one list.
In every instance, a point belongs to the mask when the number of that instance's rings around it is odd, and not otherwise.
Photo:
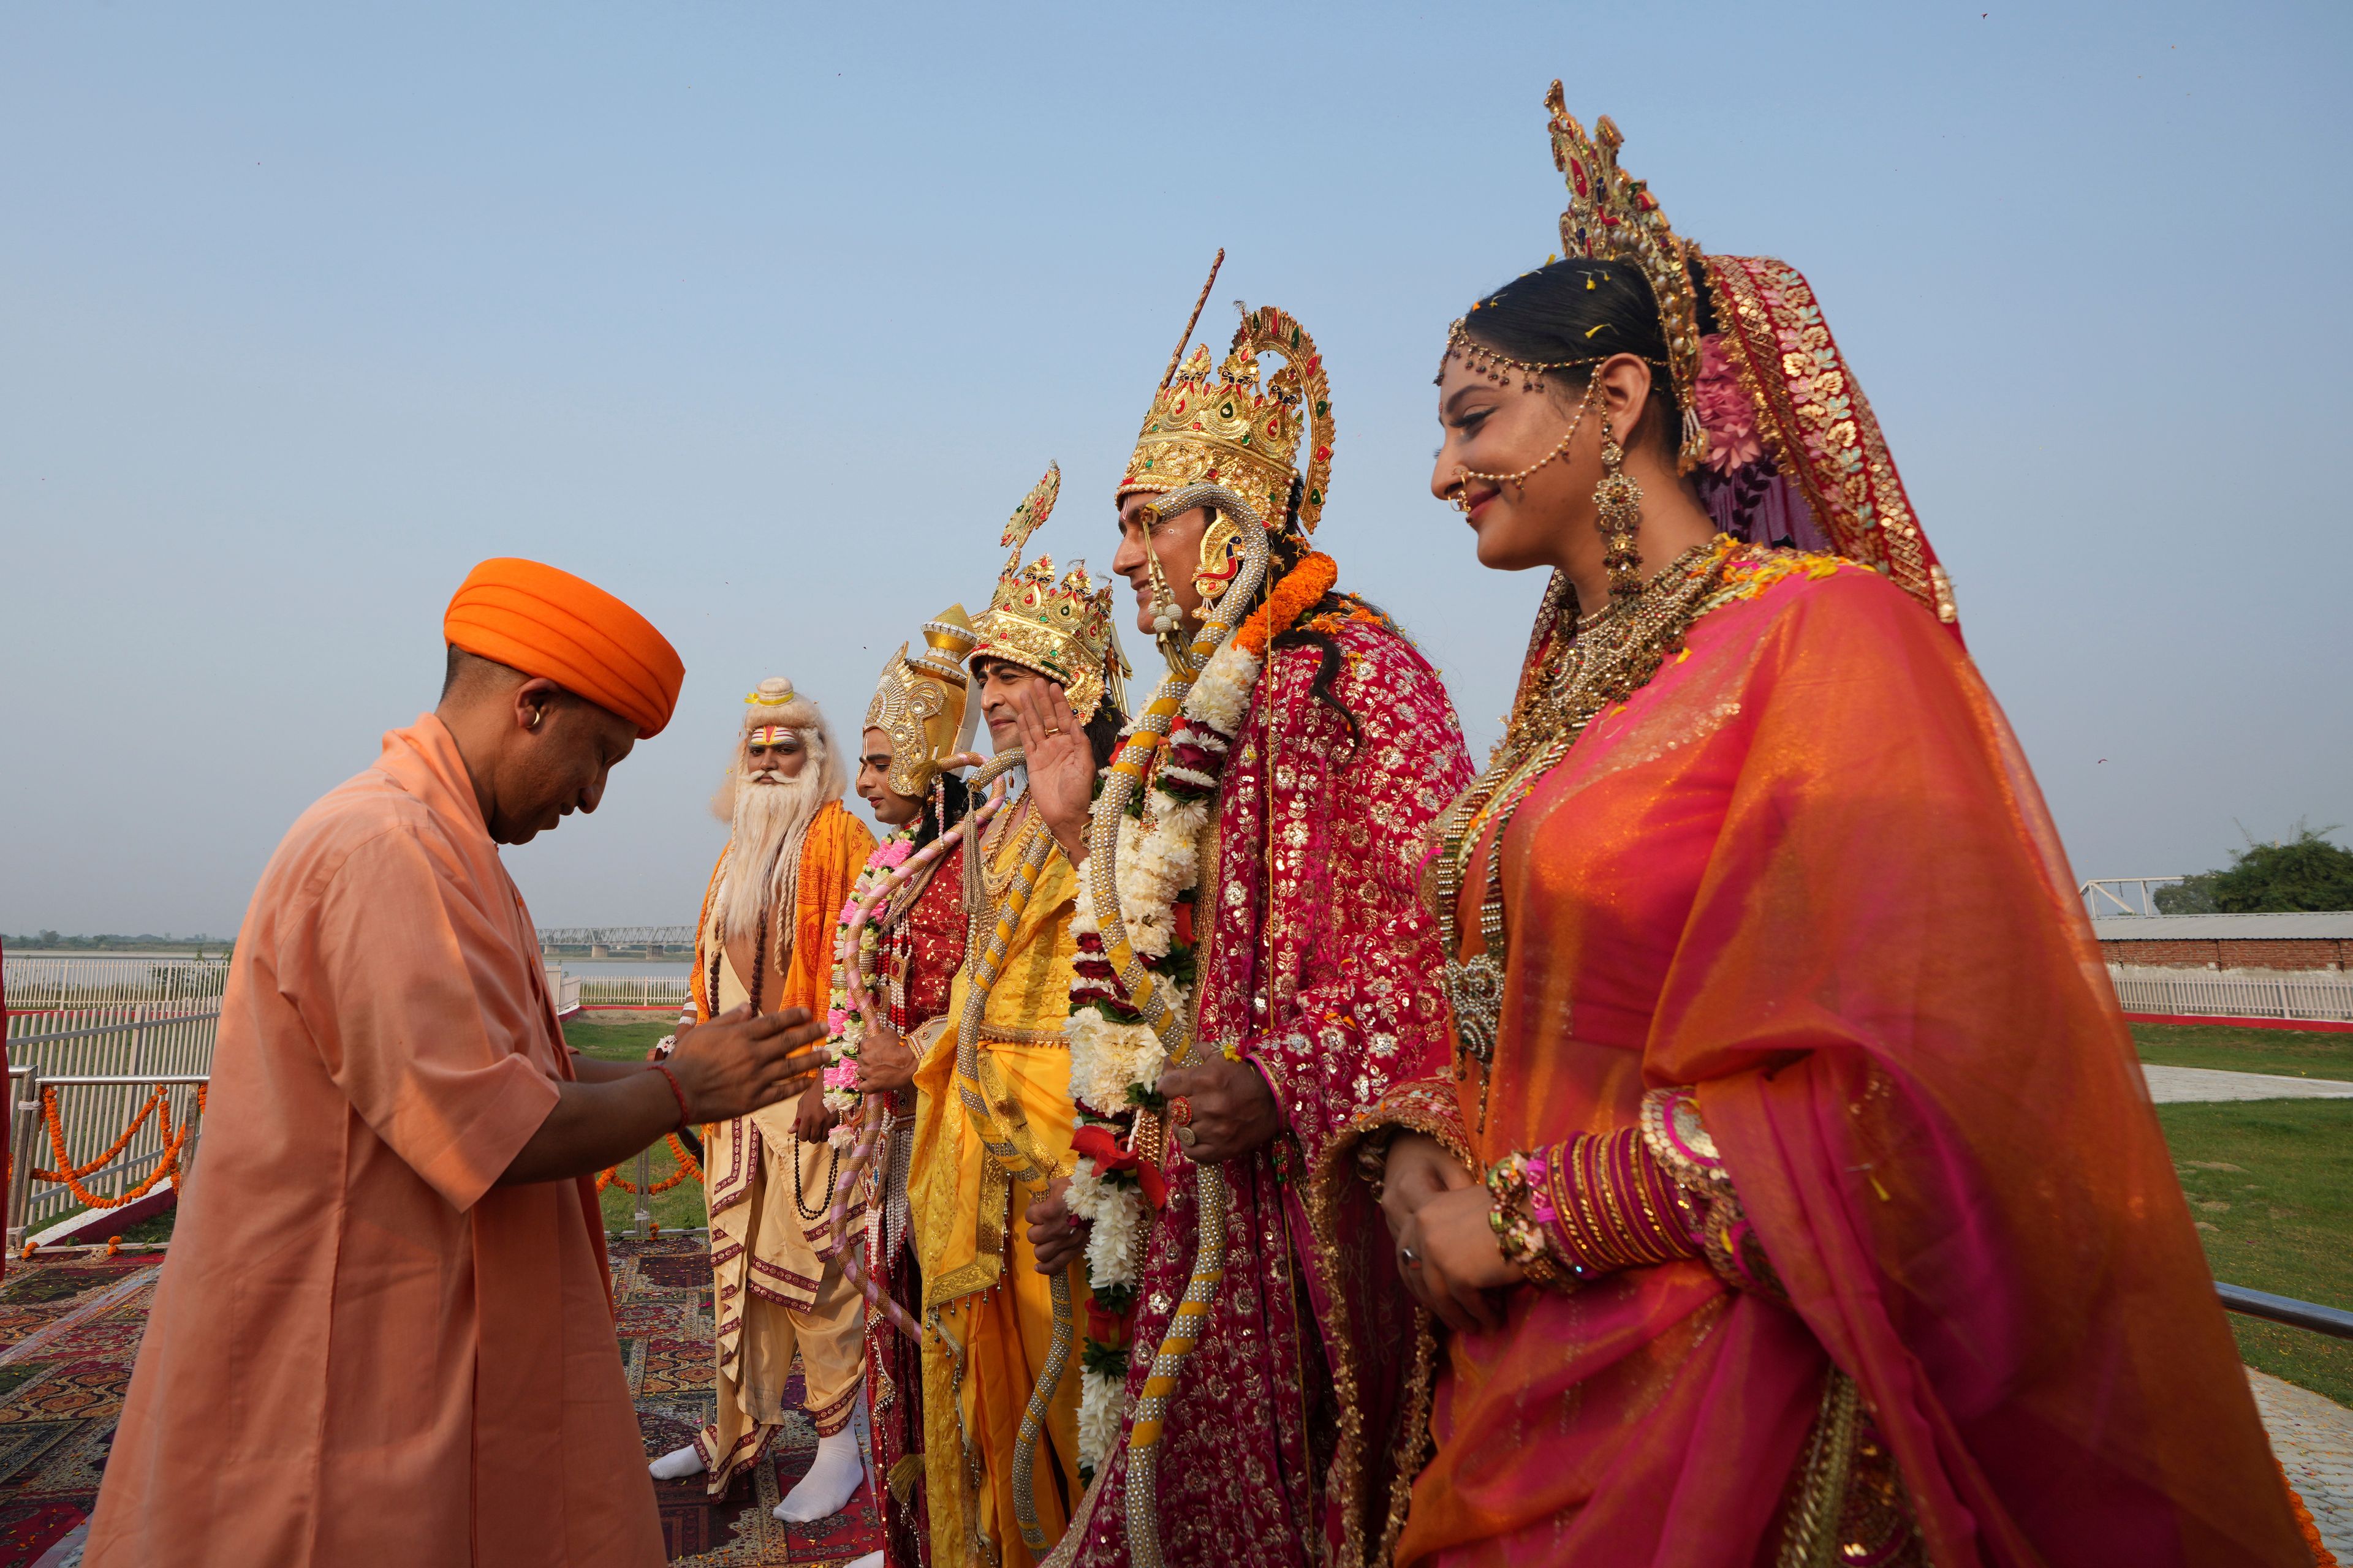
[[(1287, 357), (1264, 390), (1259, 353)], [(1099, 844), (1087, 863), (1094, 903), (1078, 926), (1071, 1081), (1078, 1135), (1096, 1140), (1082, 1143), (1096, 1159), (1080, 1180), (1094, 1180), (1113, 1138), (1132, 1133), (1151, 1166), (1146, 1187), (1158, 1194), (1165, 1182), (1165, 1197), (1141, 1215), (1129, 1211), (1129, 1222), (1141, 1222), (1132, 1281), (1092, 1274), (1099, 1302), (1132, 1288), (1134, 1316), (1089, 1328), (1080, 1441), (1099, 1465), (1052, 1563), (1360, 1561), (1367, 1521), (1388, 1495), (1384, 1467), (1412, 1302), (1388, 1269), (1388, 1232), (1369, 1194), (1353, 1180), (1315, 1185), (1308, 1173), (1393, 1079), (1442, 1070), (1438, 943), (1419, 872), (1426, 830), (1471, 766), (1435, 670), (1386, 618), (1332, 595), (1332, 557), (1308, 550), (1329, 468), (1329, 393), (1306, 331), (1280, 310), (1252, 310), (1224, 378), (1212, 381), (1205, 350), (1181, 374), (1172, 364), (1172, 376), (1120, 494), (1155, 491), (1162, 517), (1214, 508), (1195, 583), (1226, 581), (1224, 592), (1245, 599), (1226, 604), (1226, 616), (1240, 616), (1257, 590), (1233, 585), (1247, 552), (1233, 520), (1259, 529), (1268, 517), (1257, 548), (1264, 552), (1273, 534), (1282, 552), (1231, 642), (1198, 677), (1172, 675), (1139, 719), (1148, 731), (1160, 715), (1169, 741), (1148, 773), (1129, 780), (1139, 785), (1136, 816), (1118, 853)], [(1301, 411), (1315, 421), (1315, 440), (1301, 442)], [(1306, 458), (1299, 480), (1294, 447)], [(1320, 675), (1325, 693), (1315, 691)], [(1096, 802), (1099, 830), (1106, 813), (1122, 816), (1115, 790), (1132, 745), (1134, 736)], [(1174, 851), (1162, 865), (1198, 872), (1151, 893), (1162, 851)], [(1174, 978), (1191, 992), (1179, 1006), (1200, 1041), (1195, 1060), (1224, 1048), (1254, 1065), (1273, 1093), (1282, 1126), (1273, 1143), (1214, 1166), (1221, 1197), (1205, 1199), (1212, 1166), (1186, 1157), (1181, 1124), (1162, 1124), (1153, 1110), (1120, 1117), (1132, 1105), (1120, 1093), (1127, 1079), (1136, 1091), (1158, 1079), (1162, 1048), (1151, 1030), (1125, 1025), (1141, 1046), (1132, 1070), (1106, 1081), (1096, 1065), (1118, 1056), (1118, 1030), (1089, 1034), (1106, 1027), (1096, 1006), (1120, 1016), (1134, 999), (1115, 983), (1118, 964), (1096, 929), (1106, 860), (1120, 867), (1127, 936), (1155, 954), (1146, 966), (1158, 983)], [(1169, 889), (1181, 889), (1174, 903), (1162, 898)], [(1205, 1206), (1219, 1204), (1224, 1274), (1205, 1295), (1188, 1356), (1155, 1394), (1155, 1352), (1172, 1340), (1200, 1258)], [(1094, 1213), (1089, 1267), (1115, 1222)], [(1125, 1356), (1115, 1345), (1108, 1356), (1096, 1349), (1113, 1333), (1127, 1335)], [(1099, 1389), (1094, 1368), (1106, 1363), (1108, 1389)], [(1141, 1488), (1139, 1443), (1151, 1476)], [(1155, 1519), (1141, 1528), (1141, 1547), (1139, 1495)]]

